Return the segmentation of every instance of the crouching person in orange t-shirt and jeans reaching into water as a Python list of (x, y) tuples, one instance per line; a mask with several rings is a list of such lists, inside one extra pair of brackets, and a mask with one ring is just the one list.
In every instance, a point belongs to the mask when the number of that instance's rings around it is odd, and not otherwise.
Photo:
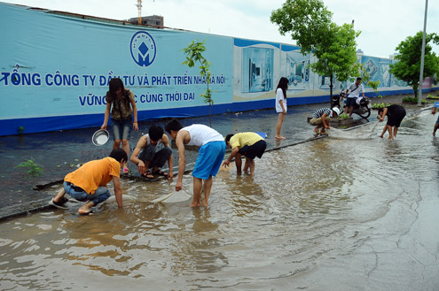
[(78, 210), (80, 215), (89, 215), (91, 208), (103, 203), (110, 196), (106, 184), (113, 180), (114, 195), (119, 207), (122, 207), (122, 187), (120, 173), (122, 165), (127, 163), (127, 153), (123, 149), (113, 149), (109, 157), (85, 163), (74, 172), (67, 173), (63, 188), (49, 202), (59, 209), (67, 209), (66, 193), (78, 201), (87, 201)]

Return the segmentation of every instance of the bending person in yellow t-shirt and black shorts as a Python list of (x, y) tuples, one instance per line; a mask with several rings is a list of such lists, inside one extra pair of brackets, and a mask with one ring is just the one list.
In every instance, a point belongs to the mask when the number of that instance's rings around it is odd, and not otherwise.
[(255, 133), (227, 134), (225, 142), (228, 148), (231, 148), (231, 155), (223, 162), (223, 166), (228, 166), (231, 159), (235, 157), (236, 172), (241, 173), (242, 158), (246, 157), (244, 172), (250, 169), (250, 175), (255, 174), (255, 157), (263, 157), (267, 148), (267, 142), (263, 137)]

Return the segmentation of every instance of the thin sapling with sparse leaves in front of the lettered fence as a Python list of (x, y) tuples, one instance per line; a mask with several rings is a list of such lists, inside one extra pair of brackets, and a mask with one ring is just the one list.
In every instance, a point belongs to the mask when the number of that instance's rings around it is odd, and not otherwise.
[(203, 56), (203, 53), (206, 51), (205, 47), (206, 40), (202, 42), (192, 41), (188, 47), (184, 48), (182, 51), (186, 55), (186, 60), (183, 62), (184, 65), (189, 66), (190, 68), (194, 67), (197, 63), (200, 64), (200, 76), (203, 80), (206, 81), (206, 85), (208, 88), (201, 93), (200, 96), (204, 98), (204, 103), (208, 103), (208, 120), (210, 123), (210, 127), (212, 127), (212, 105), (214, 104), (214, 100), (212, 99), (212, 90), (209, 88), (210, 78), (212, 74), (210, 73), (210, 65), (212, 65), (206, 57)]

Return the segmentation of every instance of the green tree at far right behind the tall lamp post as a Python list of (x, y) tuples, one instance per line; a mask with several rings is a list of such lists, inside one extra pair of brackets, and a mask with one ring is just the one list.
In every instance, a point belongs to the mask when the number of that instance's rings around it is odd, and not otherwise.
[[(408, 36), (396, 47), (398, 54), (395, 56), (396, 63), (390, 65), (390, 73), (399, 80), (404, 80), (412, 86), (415, 98), (418, 97), (420, 57), (422, 53), (422, 31), (414, 36)], [(439, 35), (426, 34), (426, 50), (424, 56), (424, 77), (433, 77), (439, 73), (439, 57), (435, 55), (428, 42), (439, 44)]]

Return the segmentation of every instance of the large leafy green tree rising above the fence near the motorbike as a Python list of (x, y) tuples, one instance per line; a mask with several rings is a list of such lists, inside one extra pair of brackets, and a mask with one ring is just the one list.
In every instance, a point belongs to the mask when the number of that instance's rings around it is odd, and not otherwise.
[(358, 72), (356, 38), (360, 34), (353, 24), (337, 26), (332, 17), (333, 13), (321, 0), (286, 0), (282, 8), (272, 11), (270, 16), (280, 34), (291, 34), (303, 55), (312, 52), (317, 57), (310, 68), (330, 77), (331, 103), (333, 79), (349, 80)]

